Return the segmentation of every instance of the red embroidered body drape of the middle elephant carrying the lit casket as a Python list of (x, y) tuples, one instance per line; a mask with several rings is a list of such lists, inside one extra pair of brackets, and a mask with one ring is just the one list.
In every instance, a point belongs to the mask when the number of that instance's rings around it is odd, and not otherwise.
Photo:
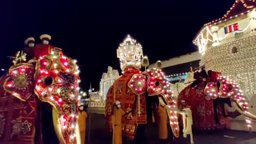
[[(137, 95), (135, 95), (129, 88), (128, 83), (134, 74), (139, 74), (140, 70), (137, 68), (126, 68), (124, 70), (124, 75), (118, 78), (115, 83), (110, 87), (107, 94), (106, 101), (106, 121), (107, 128), (111, 131), (111, 110), (114, 105), (114, 101), (120, 101), (122, 104), (122, 109), (125, 112), (136, 111), (130, 117), (124, 117), (122, 121), (122, 131), (126, 137), (134, 139), (135, 131), (138, 124), (147, 123), (147, 112), (146, 112), (146, 99), (145, 95), (140, 95), (140, 116), (138, 115), (138, 100)], [(125, 121), (124, 121), (125, 119)]]

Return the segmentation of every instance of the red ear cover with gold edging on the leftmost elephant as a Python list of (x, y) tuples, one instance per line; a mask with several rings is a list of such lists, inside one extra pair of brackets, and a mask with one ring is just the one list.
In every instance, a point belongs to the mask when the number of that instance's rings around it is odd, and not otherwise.
[(34, 74), (35, 68), (30, 63), (19, 63), (10, 67), (4, 90), (21, 101), (28, 100), (34, 93)]

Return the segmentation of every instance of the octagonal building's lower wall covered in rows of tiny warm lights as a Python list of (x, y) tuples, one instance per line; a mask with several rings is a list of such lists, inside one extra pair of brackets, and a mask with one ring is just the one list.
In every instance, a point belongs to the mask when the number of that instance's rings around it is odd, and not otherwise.
[[(241, 38), (220, 46), (217, 49), (209, 48), (202, 57), (201, 65), (206, 69), (220, 71), (237, 79), (239, 85), (249, 97), (256, 94), (255, 69), (256, 69), (256, 43), (255, 34), (243, 34)], [(232, 53), (231, 49), (236, 46), (238, 53)]]

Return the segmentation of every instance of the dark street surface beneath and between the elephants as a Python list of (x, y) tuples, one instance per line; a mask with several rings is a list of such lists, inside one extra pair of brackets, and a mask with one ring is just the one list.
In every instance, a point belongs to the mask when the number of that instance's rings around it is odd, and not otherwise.
[[(86, 119), (86, 144), (94, 143), (112, 143), (112, 135), (106, 131), (105, 126), (105, 116), (101, 114), (89, 114), (90, 116)], [(89, 125), (90, 124), (90, 125)], [(90, 131), (89, 131), (90, 130)], [(246, 131), (233, 131), (224, 130), (219, 132), (194, 132), (194, 142), (195, 144), (255, 144), (256, 143), (256, 132), (251, 134)], [(157, 139), (158, 131), (156, 127), (150, 127), (146, 129), (145, 132), (146, 140), (143, 144), (158, 144)], [(130, 140), (123, 138), (123, 143), (130, 144)], [(189, 144), (190, 138), (183, 138), (182, 134), (175, 142), (169, 143), (179, 143), (179, 144)]]

